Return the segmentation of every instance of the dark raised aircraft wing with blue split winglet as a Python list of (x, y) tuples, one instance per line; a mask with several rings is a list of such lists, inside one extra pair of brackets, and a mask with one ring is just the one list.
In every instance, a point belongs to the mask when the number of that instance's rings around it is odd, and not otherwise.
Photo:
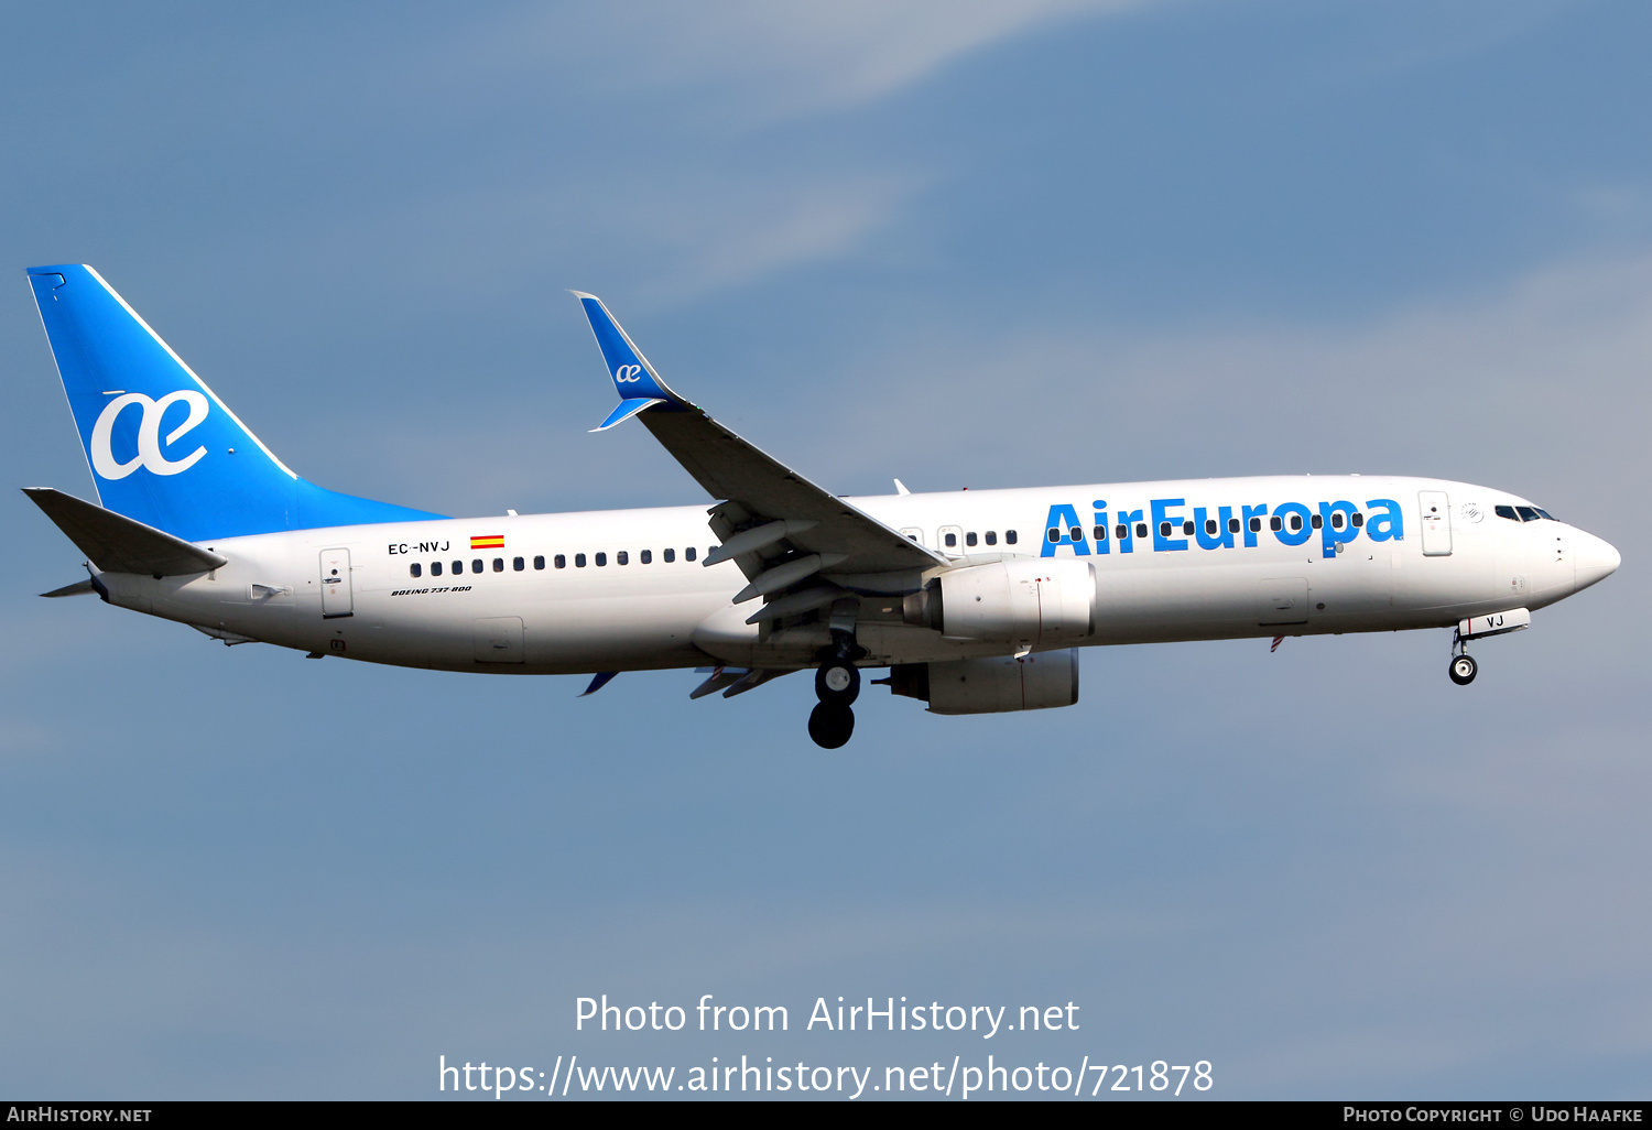
[[(793, 591), (818, 573), (894, 573), (948, 558), (902, 537), (864, 510), (747, 443), (671, 392), (595, 294), (575, 291), (620, 392), (620, 406), (593, 431), (639, 416), (705, 492), (722, 545), (707, 565), (733, 560), (752, 582), (735, 603)], [(841, 595), (841, 590), (838, 590)], [(831, 590), (823, 590), (823, 603)], [(796, 601), (793, 601), (796, 603)], [(819, 606), (819, 605), (813, 605)]]

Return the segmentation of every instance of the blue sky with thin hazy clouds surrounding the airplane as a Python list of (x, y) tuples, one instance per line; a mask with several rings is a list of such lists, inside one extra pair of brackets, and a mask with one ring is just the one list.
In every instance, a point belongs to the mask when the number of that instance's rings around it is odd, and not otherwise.
[(21, 268), (96, 266), (306, 477), (449, 514), (700, 502), (568, 287), (843, 492), (1439, 474), (1607, 540), (1444, 633), (1095, 649), (1077, 707), (223, 649), (0, 502), (0, 1090), (408, 1097), (849, 1046), (573, 999), (1077, 1001), (1001, 1056), (1224, 1097), (1642, 1095), (1652, 164), (1635, 3), (13, 8), (0, 418), (88, 494)]

